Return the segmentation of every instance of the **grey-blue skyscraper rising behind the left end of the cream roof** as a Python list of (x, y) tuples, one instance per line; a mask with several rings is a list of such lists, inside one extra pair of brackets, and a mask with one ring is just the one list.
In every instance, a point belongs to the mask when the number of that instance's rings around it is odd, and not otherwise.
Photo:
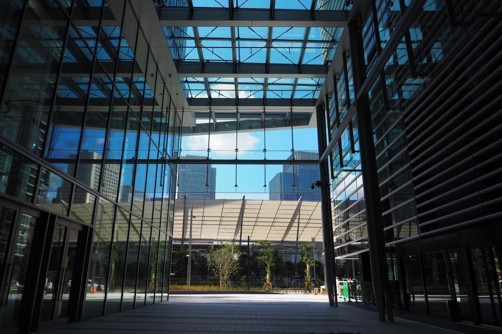
[[(207, 159), (200, 155), (186, 155), (181, 159)], [(214, 199), (216, 192), (216, 168), (211, 165), (180, 165), (178, 198)]]

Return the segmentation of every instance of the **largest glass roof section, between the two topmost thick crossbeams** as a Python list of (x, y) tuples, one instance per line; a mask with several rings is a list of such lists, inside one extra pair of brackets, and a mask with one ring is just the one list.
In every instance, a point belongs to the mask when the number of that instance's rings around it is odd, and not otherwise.
[[(342, 29), (305, 27), (163, 27), (171, 54), (182, 62), (326, 65)], [(232, 42), (233, 36), (233, 42)], [(268, 43), (268, 38), (271, 38)], [(202, 59), (197, 50), (200, 41)], [(234, 47), (232, 46), (234, 44)]]

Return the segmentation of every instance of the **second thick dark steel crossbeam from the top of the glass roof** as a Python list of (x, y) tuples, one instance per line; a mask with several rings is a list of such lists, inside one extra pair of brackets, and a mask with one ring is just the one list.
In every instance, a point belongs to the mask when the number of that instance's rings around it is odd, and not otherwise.
[(325, 65), (270, 64), (267, 67), (267, 64), (234, 64), (204, 63), (202, 67), (199, 63), (184, 61), (177, 69), (181, 78), (326, 78), (328, 73)]

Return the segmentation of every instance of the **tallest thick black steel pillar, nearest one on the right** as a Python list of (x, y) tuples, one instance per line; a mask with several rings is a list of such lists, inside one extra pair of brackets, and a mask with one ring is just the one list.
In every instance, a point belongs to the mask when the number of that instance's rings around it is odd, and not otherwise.
[[(349, 22), (347, 28), (352, 64), (352, 78), (354, 80), (355, 95), (357, 96), (366, 79), (362, 34), (358, 21)], [(386, 304), (389, 305), (389, 303), (386, 303), (388, 273), (385, 255), (382, 204), (376, 168), (373, 126), (371, 122), (368, 94), (362, 94), (362, 96), (356, 100), (355, 109), (357, 116), (357, 131), (359, 134), (364, 203), (366, 206), (371, 278), (379, 320), (385, 321)], [(388, 311), (389, 320), (391, 320), (392, 310), (390, 307)]]

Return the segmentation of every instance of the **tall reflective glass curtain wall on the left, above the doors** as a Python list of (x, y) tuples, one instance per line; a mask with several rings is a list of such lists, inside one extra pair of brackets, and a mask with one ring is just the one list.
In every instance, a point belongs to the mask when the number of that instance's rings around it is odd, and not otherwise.
[(0, 195), (92, 227), (83, 318), (166, 300), (182, 116), (129, 0), (0, 9)]

